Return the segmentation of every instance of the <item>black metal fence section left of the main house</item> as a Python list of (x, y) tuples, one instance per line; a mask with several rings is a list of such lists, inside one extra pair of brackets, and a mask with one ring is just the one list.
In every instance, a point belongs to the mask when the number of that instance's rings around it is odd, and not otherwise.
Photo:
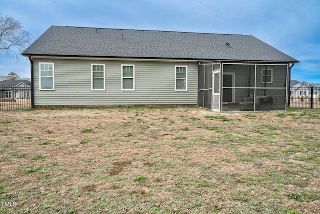
[(31, 87), (24, 83), (0, 85), (0, 111), (29, 109)]

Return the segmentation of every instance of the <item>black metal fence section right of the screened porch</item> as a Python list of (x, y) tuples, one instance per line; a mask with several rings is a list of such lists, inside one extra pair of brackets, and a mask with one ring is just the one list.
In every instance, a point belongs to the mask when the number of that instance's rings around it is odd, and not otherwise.
[(320, 109), (320, 87), (290, 88), (288, 106)]

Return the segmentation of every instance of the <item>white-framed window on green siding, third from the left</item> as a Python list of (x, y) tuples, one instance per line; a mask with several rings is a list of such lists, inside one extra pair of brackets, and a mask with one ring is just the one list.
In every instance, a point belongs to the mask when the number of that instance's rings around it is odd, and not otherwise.
[(134, 91), (134, 65), (121, 65), (121, 91)]

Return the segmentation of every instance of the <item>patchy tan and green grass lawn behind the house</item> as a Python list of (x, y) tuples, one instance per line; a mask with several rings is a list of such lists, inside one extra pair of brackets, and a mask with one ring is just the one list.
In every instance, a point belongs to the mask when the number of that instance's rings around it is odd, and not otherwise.
[(320, 111), (0, 112), (0, 213), (320, 213)]

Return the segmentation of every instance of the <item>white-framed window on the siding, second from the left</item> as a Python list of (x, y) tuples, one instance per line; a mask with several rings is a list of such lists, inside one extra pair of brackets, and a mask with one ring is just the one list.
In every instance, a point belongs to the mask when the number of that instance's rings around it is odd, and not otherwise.
[(91, 90), (105, 90), (105, 72), (104, 64), (91, 64)]

